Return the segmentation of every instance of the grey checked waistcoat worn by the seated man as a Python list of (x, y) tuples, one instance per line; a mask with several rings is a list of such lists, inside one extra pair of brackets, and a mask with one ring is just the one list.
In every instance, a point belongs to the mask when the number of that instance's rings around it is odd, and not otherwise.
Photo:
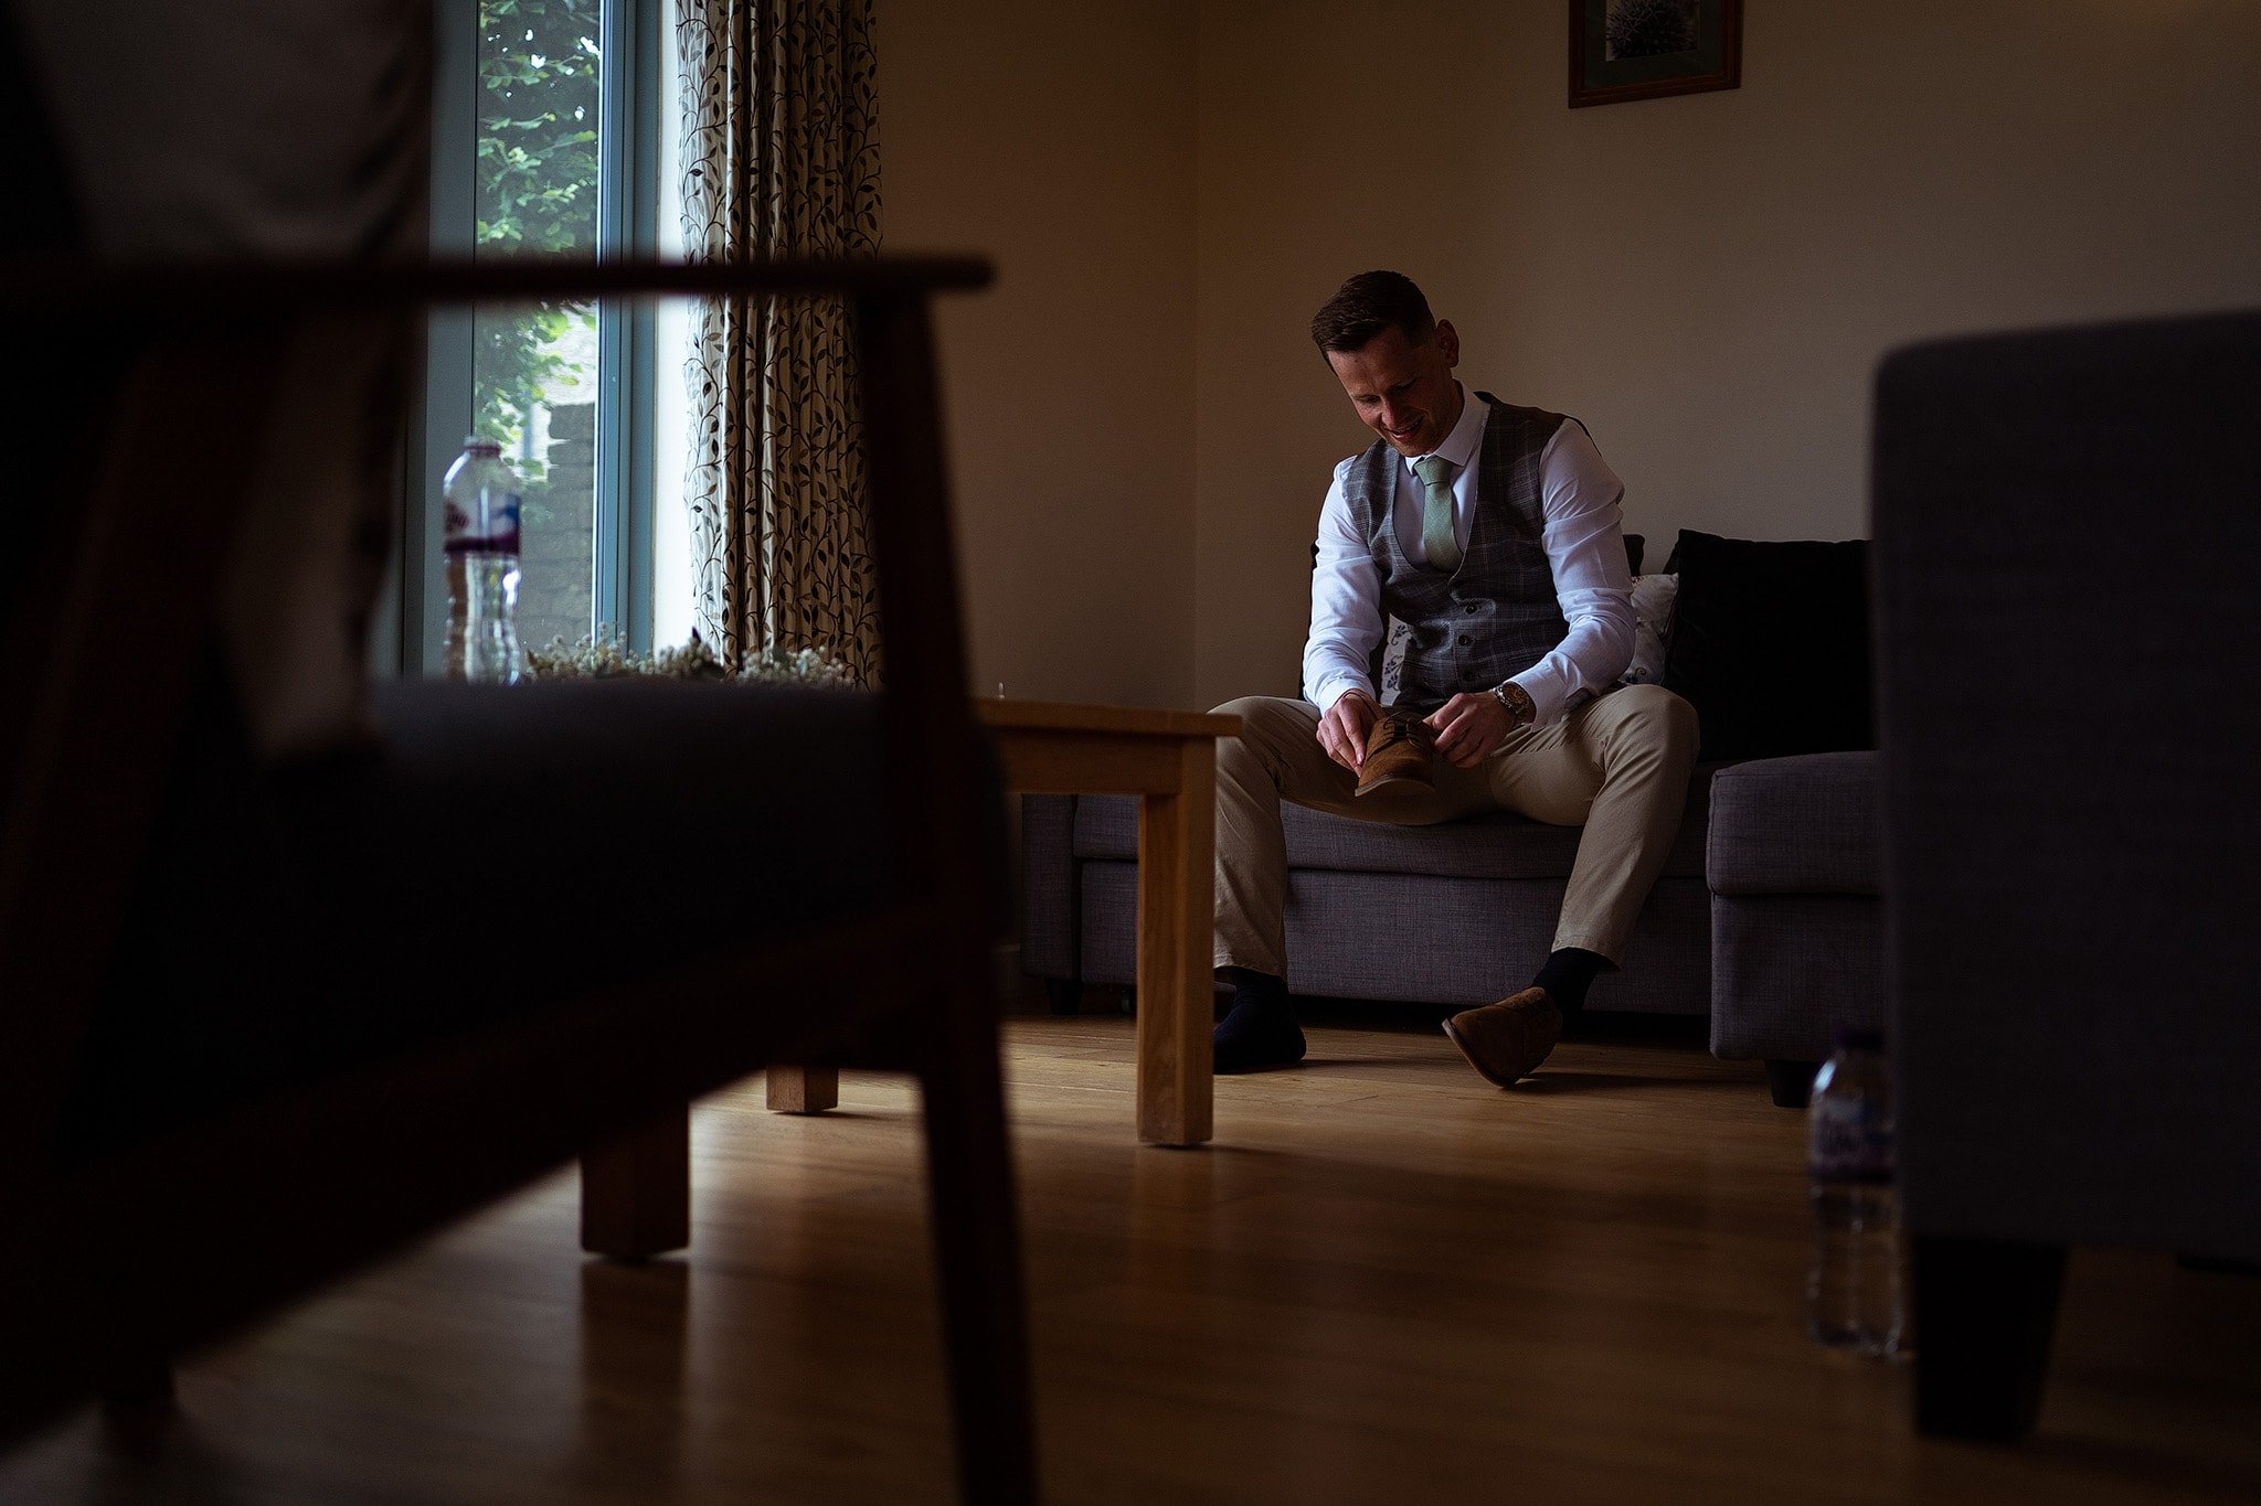
[(1540, 452), (1565, 420), (1476, 393), (1490, 413), (1476, 449), (1476, 515), (1449, 576), (1397, 546), (1391, 501), (1404, 458), (1375, 440), (1343, 476), (1352, 524), (1375, 551), (1381, 612), (1406, 623), (1397, 704), (1433, 709), (1461, 691), (1488, 691), (1524, 673), (1562, 641), (1569, 623), (1547, 564)]

